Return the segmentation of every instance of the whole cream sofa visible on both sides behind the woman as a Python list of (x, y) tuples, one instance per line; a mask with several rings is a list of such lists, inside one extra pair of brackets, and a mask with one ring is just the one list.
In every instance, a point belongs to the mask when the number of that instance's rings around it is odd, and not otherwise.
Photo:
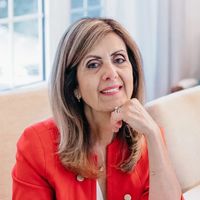
[[(165, 130), (166, 144), (186, 200), (200, 199), (200, 86), (145, 105)], [(46, 84), (0, 94), (0, 199), (10, 200), (16, 143), (28, 125), (51, 116)], [(169, 191), (170, 192), (170, 191)]]

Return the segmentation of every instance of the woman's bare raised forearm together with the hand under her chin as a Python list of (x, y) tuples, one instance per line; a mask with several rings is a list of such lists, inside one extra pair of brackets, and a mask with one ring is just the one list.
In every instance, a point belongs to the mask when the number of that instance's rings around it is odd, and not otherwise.
[[(111, 123), (120, 120), (142, 133), (147, 141), (149, 157), (149, 194), (143, 199), (180, 200), (181, 188), (171, 166), (161, 132), (157, 124), (137, 99), (131, 99), (111, 114)], [(149, 196), (149, 197), (148, 197)]]

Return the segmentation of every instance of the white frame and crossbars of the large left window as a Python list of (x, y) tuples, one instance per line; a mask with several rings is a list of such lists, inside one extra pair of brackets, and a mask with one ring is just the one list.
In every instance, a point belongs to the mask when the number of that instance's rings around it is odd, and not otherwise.
[(39, 55), (39, 77), (38, 81), (44, 81), (46, 77), (45, 73), (45, 13), (44, 13), (44, 0), (37, 0), (38, 1), (38, 12), (32, 13), (32, 14), (25, 14), (25, 15), (19, 15), (19, 16), (14, 16), (14, 1), (13, 0), (8, 0), (8, 15), (5, 18), (0, 18), (0, 24), (2, 25), (7, 25), (8, 26), (8, 52), (9, 52), (9, 64), (8, 64), (8, 88), (0, 90), (0, 92), (4, 90), (13, 90), (17, 87), (22, 87), (26, 86), (29, 84), (33, 84), (35, 82), (30, 82), (27, 84), (15, 84), (15, 66), (14, 66), (14, 24), (16, 22), (25, 22), (29, 20), (34, 20), (36, 19), (38, 21), (38, 43), (41, 47), (41, 52), (42, 55)]

